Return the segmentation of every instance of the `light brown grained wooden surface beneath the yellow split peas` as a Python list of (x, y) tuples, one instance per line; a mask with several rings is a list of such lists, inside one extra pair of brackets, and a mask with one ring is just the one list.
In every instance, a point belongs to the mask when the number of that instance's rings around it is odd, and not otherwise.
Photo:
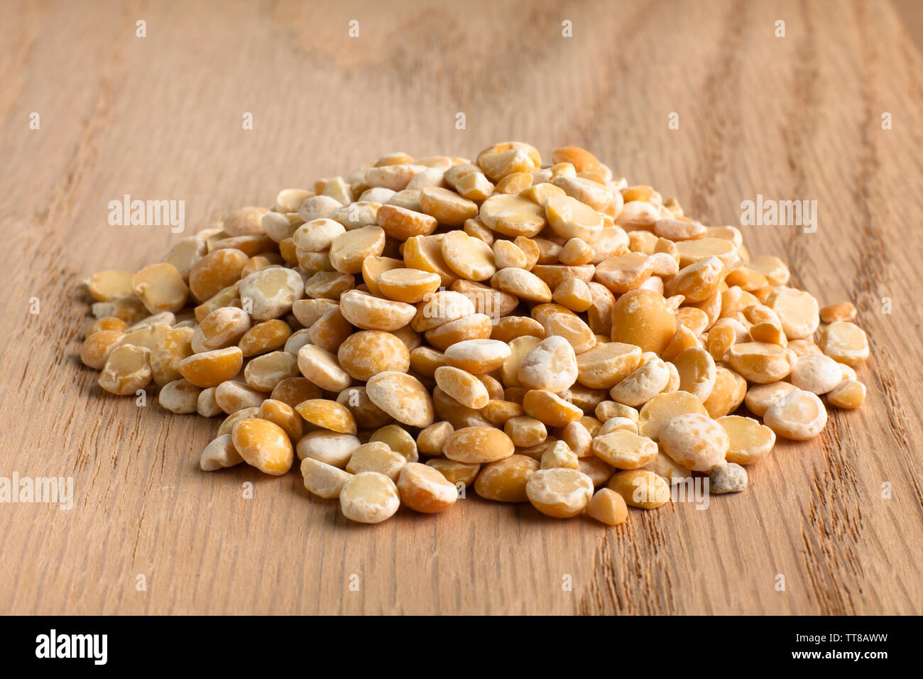
[[(0, 476), (72, 476), (77, 500), (0, 504), (0, 612), (923, 612), (923, 59), (905, 20), (845, 0), (3, 3)], [(200, 472), (217, 421), (104, 394), (79, 365), (81, 278), (181, 237), (109, 226), (109, 200), (186, 200), (193, 228), (386, 152), (507, 139), (586, 146), (709, 224), (758, 193), (818, 200), (817, 233), (745, 238), (857, 303), (866, 405), (707, 511), (607, 529), (469, 496), (363, 527), (296, 471)]]

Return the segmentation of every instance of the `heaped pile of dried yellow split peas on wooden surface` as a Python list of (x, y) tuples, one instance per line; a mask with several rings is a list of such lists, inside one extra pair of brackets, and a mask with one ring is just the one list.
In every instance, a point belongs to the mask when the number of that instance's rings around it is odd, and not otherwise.
[(80, 358), (107, 392), (222, 416), (202, 469), (297, 455), (354, 521), (473, 484), (617, 525), (696, 476), (742, 491), (776, 436), (862, 404), (856, 308), (788, 281), (580, 148), (391, 153), (94, 274)]

